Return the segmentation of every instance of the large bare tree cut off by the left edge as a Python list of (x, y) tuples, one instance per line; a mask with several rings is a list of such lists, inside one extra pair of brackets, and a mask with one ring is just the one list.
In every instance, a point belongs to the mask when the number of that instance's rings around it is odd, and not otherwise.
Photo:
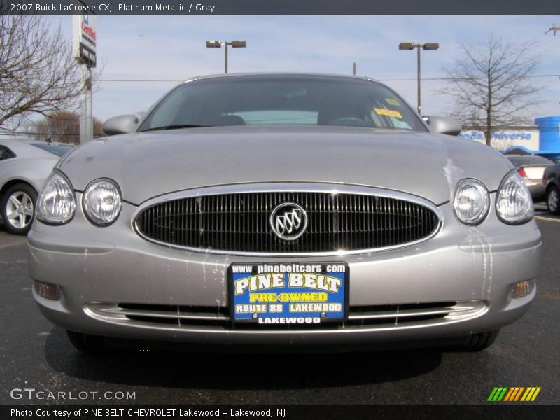
[(76, 106), (80, 69), (60, 27), (38, 15), (0, 15), (0, 130), (17, 130), (33, 113)]

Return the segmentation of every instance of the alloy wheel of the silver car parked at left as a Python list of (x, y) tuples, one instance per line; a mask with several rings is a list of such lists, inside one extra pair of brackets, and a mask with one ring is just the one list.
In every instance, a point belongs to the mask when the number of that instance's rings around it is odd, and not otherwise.
[(8, 188), (0, 204), (6, 230), (14, 235), (27, 235), (36, 202), (37, 192), (29, 184), (18, 183)]

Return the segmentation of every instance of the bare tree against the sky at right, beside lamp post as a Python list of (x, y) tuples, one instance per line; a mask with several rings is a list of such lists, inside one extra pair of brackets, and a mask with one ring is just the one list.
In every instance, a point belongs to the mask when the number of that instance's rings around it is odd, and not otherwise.
[(442, 93), (454, 99), (451, 116), (481, 130), (490, 145), (493, 127), (526, 121), (538, 102), (540, 87), (528, 76), (538, 66), (531, 45), (512, 45), (491, 38), (483, 45), (461, 45), (464, 59), (444, 69), (449, 82)]

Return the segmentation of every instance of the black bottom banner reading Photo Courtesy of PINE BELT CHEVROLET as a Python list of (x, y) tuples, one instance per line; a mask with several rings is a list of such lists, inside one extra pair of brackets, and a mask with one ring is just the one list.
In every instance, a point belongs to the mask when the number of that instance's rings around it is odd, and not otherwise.
[[(95, 410), (95, 415), (84, 415), (85, 410)], [(16, 415), (27, 412), (31, 415)], [(97, 411), (100, 410), (100, 411)], [(109, 411), (106, 411), (109, 410)], [(143, 411), (144, 410), (144, 411)], [(279, 412), (277, 410), (283, 410)], [(44, 416), (37, 413), (45, 412)], [(219, 416), (216, 416), (216, 411)], [(558, 418), (559, 406), (531, 406), (526, 403), (510, 403), (509, 405), (27, 405), (15, 406), (4, 405), (0, 407), (0, 418), (3, 420), (15, 419), (119, 419), (119, 420), (188, 420), (188, 419), (225, 419), (225, 420), (248, 420), (248, 419), (351, 419), (351, 420), (422, 420), (437, 419), (455, 416), (461, 420), (486, 420), (486, 419), (555, 419)], [(46, 414), (46, 412), (69, 412), (70, 415)], [(91, 411), (90, 411), (91, 412)], [(195, 412), (209, 412), (214, 415), (194, 415)], [(269, 412), (271, 415), (251, 415), (251, 412)], [(81, 413), (78, 414), (78, 413)], [(144, 414), (146, 413), (146, 414)], [(152, 414), (151, 414), (152, 413)], [(282, 415), (283, 414), (283, 415)]]

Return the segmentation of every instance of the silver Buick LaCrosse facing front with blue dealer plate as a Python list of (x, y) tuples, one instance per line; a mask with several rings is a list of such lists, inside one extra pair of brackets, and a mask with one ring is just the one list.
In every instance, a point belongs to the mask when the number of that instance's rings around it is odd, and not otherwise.
[(80, 348), (484, 349), (535, 297), (540, 232), (506, 158), (427, 121), (370, 78), (188, 80), (52, 172), (36, 302)]

